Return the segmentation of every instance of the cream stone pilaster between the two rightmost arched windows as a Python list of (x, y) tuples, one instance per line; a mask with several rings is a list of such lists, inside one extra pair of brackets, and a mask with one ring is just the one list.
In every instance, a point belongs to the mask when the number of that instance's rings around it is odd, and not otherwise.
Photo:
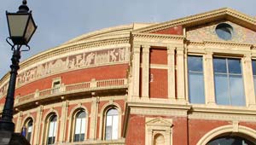
[(91, 98), (91, 109), (90, 109), (90, 140), (96, 140), (96, 129), (97, 129), (97, 116), (98, 116), (98, 104), (99, 97)]

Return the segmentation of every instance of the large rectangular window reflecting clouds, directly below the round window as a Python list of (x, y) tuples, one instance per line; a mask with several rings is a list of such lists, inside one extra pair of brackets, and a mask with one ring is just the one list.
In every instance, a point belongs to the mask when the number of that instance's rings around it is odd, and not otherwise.
[(213, 58), (216, 102), (220, 105), (244, 106), (245, 95), (241, 60)]

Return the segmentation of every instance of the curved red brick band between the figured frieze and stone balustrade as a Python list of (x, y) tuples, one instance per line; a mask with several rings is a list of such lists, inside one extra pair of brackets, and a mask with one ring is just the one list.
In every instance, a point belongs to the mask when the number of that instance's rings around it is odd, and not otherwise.
[[(35, 90), (46, 90), (51, 88), (53, 78), (61, 77), (61, 83), (75, 84), (80, 82), (89, 82), (92, 78), (96, 80), (112, 79), (112, 78), (126, 78), (127, 64), (120, 64), (114, 66), (91, 67), (67, 73), (60, 73), (47, 78), (42, 78), (32, 83), (26, 84), (15, 90), (15, 96), (26, 96), (34, 93)], [(4, 103), (3, 99), (1, 102)]]

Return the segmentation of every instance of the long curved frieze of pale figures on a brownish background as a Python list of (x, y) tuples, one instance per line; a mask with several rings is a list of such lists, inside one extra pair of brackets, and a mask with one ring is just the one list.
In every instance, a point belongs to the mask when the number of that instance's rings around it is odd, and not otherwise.
[[(17, 77), (17, 86), (32, 82), (38, 78), (44, 78), (51, 74), (66, 72), (73, 69), (84, 67), (101, 66), (108, 63), (129, 61), (129, 49), (104, 49), (98, 51), (84, 52), (78, 55), (69, 55), (54, 61), (48, 61), (37, 67), (32, 67), (24, 72), (19, 72)], [(1, 92), (6, 89), (4, 85)]]

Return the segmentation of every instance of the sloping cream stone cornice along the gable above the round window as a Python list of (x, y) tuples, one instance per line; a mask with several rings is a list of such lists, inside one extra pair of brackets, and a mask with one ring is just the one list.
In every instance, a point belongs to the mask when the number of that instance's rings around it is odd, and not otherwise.
[(156, 24), (153, 26), (143, 27), (141, 29), (135, 30), (134, 32), (157, 32), (173, 26), (193, 26), (198, 25), (201, 22), (209, 22), (223, 18), (227, 18), (228, 20), (236, 19), (237, 22), (239, 22), (238, 20), (240, 20), (240, 22), (242, 20), (244, 23), (248, 24), (248, 26), (251, 26), (253, 30), (255, 30), (256, 20), (253, 19), (253, 17), (247, 14), (241, 14), (240, 12), (237, 12), (233, 9), (224, 8), (206, 13), (191, 15), (177, 20), (166, 21), (164, 23)]

